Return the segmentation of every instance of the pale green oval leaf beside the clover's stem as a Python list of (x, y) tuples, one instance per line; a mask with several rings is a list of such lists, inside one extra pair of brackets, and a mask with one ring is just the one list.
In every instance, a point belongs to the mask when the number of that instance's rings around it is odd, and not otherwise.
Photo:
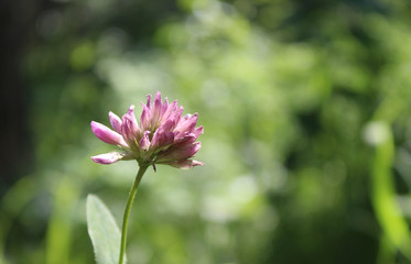
[(117, 264), (120, 252), (120, 230), (109, 209), (95, 195), (87, 197), (87, 227), (97, 263)]

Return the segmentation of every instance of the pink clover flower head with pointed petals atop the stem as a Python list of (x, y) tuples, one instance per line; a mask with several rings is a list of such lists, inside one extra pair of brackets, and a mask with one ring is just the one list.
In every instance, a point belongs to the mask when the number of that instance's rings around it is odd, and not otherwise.
[(99, 164), (111, 164), (121, 160), (136, 160), (139, 165), (165, 164), (179, 168), (191, 168), (204, 165), (202, 162), (191, 160), (201, 148), (197, 138), (204, 128), (197, 124), (197, 113), (182, 117), (183, 107), (177, 101), (169, 103), (165, 98), (161, 100), (156, 91), (154, 101), (151, 95), (147, 96), (147, 103), (141, 103), (142, 112), (140, 124), (134, 116), (134, 106), (131, 106), (120, 119), (112, 112), (108, 113), (113, 130), (91, 121), (95, 135), (111, 145), (121, 148), (93, 156), (91, 160)]

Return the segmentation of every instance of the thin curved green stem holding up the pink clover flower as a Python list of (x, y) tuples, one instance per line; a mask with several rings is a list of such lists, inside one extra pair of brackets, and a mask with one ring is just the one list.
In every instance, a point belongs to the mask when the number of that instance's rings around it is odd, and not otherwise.
[(134, 184), (132, 185), (132, 187), (130, 189), (129, 199), (127, 200), (127, 206), (126, 206), (126, 209), (125, 209), (125, 216), (123, 216), (123, 219), (122, 219), (122, 227), (121, 227), (121, 246), (120, 246), (120, 257), (119, 257), (119, 262), (118, 262), (119, 264), (122, 264), (123, 258), (125, 258), (126, 240), (127, 240), (127, 226), (128, 226), (128, 222), (129, 222), (129, 215), (130, 215), (130, 211), (131, 211), (132, 201), (134, 200), (134, 197), (136, 197), (136, 194), (137, 194), (137, 188), (139, 187), (141, 178), (144, 175), (148, 167), (149, 167), (149, 165), (143, 165), (143, 166), (140, 165), (139, 172), (137, 173), (137, 176), (136, 176), (136, 179), (134, 179)]

